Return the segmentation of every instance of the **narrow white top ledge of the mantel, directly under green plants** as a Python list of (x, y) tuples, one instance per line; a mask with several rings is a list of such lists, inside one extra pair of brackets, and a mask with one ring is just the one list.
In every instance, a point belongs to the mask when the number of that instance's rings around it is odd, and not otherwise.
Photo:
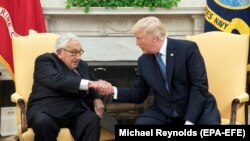
[(72, 7), (43, 7), (45, 15), (193, 15), (204, 14), (204, 7), (174, 7), (171, 9), (156, 8), (150, 11), (148, 8), (119, 7), (106, 9), (104, 7), (91, 7), (89, 13), (84, 13), (83, 8)]

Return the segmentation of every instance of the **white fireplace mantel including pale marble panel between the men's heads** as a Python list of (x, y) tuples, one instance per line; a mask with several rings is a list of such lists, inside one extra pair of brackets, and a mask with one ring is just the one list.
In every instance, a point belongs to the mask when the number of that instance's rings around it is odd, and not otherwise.
[[(129, 30), (138, 19), (157, 16), (166, 24), (170, 37), (184, 38), (203, 32), (205, 8), (157, 8), (150, 11), (148, 8), (92, 7), (86, 14), (83, 8), (43, 7), (43, 11), (48, 32), (73, 32), (81, 37), (88, 51), (83, 58), (86, 61), (135, 61), (141, 51)], [(102, 52), (106, 50), (109, 52)]]

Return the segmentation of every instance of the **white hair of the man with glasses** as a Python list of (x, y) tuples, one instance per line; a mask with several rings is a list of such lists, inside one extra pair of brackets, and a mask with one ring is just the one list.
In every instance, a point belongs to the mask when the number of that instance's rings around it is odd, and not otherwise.
[(65, 48), (67, 46), (68, 42), (71, 40), (75, 40), (75, 41), (80, 42), (79, 38), (75, 34), (72, 34), (72, 33), (61, 34), (56, 40), (55, 49), (57, 50), (60, 48)]

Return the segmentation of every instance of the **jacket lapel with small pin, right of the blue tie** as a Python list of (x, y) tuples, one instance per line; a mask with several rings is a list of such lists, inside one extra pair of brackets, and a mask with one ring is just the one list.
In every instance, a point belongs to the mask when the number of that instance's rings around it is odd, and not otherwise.
[(169, 91), (171, 91), (171, 81), (173, 76), (173, 70), (174, 70), (174, 64), (175, 64), (175, 56), (176, 56), (176, 50), (173, 45), (173, 42), (171, 39), (167, 38), (167, 57), (166, 57), (166, 64), (167, 64), (167, 79), (168, 79), (168, 88)]

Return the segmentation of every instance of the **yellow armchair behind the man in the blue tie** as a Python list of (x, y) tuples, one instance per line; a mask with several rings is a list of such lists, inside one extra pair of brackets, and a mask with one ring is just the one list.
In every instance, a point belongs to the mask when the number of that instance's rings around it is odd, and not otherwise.
[(204, 58), (209, 91), (216, 98), (222, 124), (247, 124), (249, 35), (212, 31), (186, 39), (197, 43)]

